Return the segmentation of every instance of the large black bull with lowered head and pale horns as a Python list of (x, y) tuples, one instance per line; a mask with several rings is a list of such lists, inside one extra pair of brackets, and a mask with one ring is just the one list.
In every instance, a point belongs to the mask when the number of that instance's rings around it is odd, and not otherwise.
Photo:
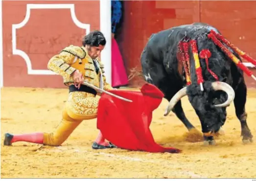
[[(233, 101), (236, 116), (241, 123), (242, 140), (252, 142), (253, 136), (246, 122), (247, 87), (243, 71), (207, 37), (211, 29), (219, 33), (216, 28), (208, 24), (193, 23), (152, 34), (141, 53), (144, 78), (163, 91), (165, 98), (170, 101), (165, 115), (170, 111), (174, 112), (186, 128), (191, 130), (194, 126), (186, 118), (180, 101), (183, 96), (188, 96), (190, 104), (200, 119), (207, 144), (214, 144), (213, 136), (224, 125), (227, 116), (226, 107)], [(209, 68), (219, 80), (217, 83), (209, 73), (205, 60), (200, 58), (204, 91), (201, 91), (197, 83), (191, 49), (189, 49), (191, 85), (186, 86), (184, 68), (182, 67), (182, 71), (179, 71), (182, 63), (177, 58), (178, 44), (185, 37), (197, 41), (198, 53), (202, 49), (209, 49), (211, 52)], [(240, 60), (237, 54), (234, 52), (233, 54)]]

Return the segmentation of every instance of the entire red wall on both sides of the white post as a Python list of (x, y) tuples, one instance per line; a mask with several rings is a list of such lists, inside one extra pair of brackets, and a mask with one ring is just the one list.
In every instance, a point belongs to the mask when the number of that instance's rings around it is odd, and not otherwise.
[[(99, 1), (2, 1), (3, 86), (65, 87), (58, 75), (28, 75), (24, 58), (12, 51), (12, 25), (23, 22), (26, 4), (46, 3), (74, 4), (77, 20), (90, 24), (91, 30), (99, 29)], [(140, 68), (140, 53), (152, 33), (193, 22), (212, 24), (256, 59), (256, 1), (127, 0), (124, 8), (124, 23), (117, 41), (128, 72), (136, 66)], [(74, 23), (70, 9), (31, 9), (28, 22), (16, 30), (16, 45), (27, 54), (32, 69), (47, 70), (49, 58), (67, 45), (81, 45), (85, 32)], [(256, 87), (252, 78), (245, 78), (249, 87)], [(138, 77), (130, 81), (131, 86), (140, 82)]]

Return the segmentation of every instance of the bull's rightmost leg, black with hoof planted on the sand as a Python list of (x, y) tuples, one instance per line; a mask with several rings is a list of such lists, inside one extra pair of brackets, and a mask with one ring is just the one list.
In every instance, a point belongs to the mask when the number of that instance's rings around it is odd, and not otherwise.
[(243, 143), (253, 142), (253, 135), (247, 125), (247, 113), (245, 112), (247, 88), (242, 82), (235, 91), (234, 107), (235, 114), (241, 123), (241, 136)]

